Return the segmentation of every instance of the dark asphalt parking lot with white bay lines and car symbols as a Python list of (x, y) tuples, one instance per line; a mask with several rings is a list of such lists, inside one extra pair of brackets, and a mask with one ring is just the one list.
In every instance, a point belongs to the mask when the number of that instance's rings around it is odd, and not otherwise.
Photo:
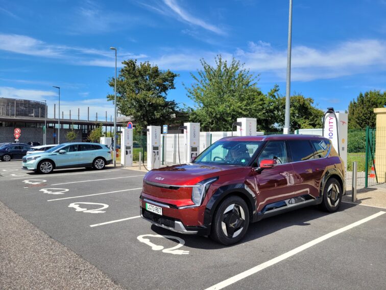
[(143, 175), (114, 167), (40, 175), (0, 162), (0, 200), (128, 289), (386, 288), (384, 209), (300, 209), (224, 247), (142, 220)]

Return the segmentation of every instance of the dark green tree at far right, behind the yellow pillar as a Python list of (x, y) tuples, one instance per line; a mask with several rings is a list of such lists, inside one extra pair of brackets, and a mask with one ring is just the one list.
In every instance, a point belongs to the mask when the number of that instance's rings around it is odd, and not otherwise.
[(349, 104), (349, 129), (364, 129), (366, 126), (375, 127), (376, 115), (374, 108), (383, 108), (386, 105), (386, 92), (369, 91), (360, 93), (356, 100)]

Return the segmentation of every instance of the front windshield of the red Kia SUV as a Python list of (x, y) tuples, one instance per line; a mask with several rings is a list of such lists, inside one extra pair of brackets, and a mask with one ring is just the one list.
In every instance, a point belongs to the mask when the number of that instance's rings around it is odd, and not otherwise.
[(246, 166), (261, 141), (218, 141), (209, 146), (194, 163)]

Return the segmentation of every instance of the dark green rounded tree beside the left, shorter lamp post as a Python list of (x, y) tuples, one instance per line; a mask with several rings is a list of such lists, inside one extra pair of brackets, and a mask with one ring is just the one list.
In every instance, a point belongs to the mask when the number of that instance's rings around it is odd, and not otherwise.
[[(175, 88), (178, 76), (170, 70), (161, 71), (148, 61), (137, 63), (130, 59), (123, 61), (123, 68), (116, 80), (117, 107), (125, 116), (136, 121), (138, 129), (147, 125), (162, 125), (175, 113), (177, 103), (166, 100), (167, 92)], [(114, 78), (109, 80), (114, 87)], [(114, 95), (108, 95), (114, 100)]]

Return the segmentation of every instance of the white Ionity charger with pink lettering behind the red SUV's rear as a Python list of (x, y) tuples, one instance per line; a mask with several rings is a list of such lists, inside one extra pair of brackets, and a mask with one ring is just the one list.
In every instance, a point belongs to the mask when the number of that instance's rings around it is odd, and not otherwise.
[(323, 118), (323, 137), (331, 140), (331, 144), (345, 163), (347, 170), (347, 123), (348, 114), (335, 112), (327, 108)]

